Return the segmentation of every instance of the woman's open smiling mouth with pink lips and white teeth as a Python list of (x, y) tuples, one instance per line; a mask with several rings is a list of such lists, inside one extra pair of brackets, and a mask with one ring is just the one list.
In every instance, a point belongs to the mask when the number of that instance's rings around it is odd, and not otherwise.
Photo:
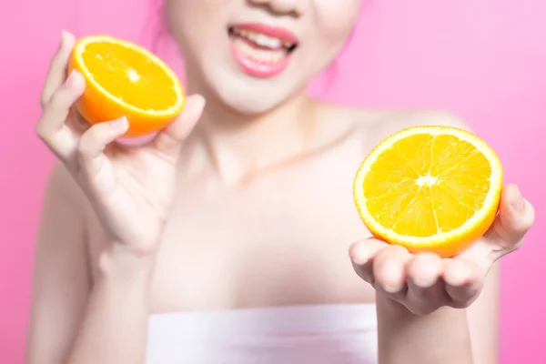
[(298, 47), (295, 35), (266, 25), (230, 26), (228, 35), (236, 59), (252, 76), (278, 74)]

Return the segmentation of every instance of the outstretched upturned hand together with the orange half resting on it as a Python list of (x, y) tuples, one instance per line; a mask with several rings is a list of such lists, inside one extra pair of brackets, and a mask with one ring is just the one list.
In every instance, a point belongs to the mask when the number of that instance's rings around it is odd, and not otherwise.
[(521, 247), (534, 221), (499, 158), (459, 128), (414, 126), (369, 153), (354, 181), (359, 215), (375, 238), (349, 248), (378, 305), (427, 315), (467, 308), (493, 264)]

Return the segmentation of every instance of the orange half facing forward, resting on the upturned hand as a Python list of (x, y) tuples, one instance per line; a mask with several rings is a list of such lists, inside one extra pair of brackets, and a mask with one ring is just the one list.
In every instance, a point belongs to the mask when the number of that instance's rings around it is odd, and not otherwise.
[(353, 194), (374, 237), (448, 258), (489, 229), (501, 189), (501, 161), (480, 137), (455, 127), (414, 126), (369, 153)]

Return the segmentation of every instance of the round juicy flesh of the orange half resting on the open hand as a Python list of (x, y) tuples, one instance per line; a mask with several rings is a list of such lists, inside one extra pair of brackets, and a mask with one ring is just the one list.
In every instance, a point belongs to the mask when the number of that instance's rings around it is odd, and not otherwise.
[(430, 237), (461, 227), (483, 207), (490, 174), (488, 159), (469, 142), (417, 134), (378, 157), (364, 194), (369, 212), (384, 227), (400, 235)]

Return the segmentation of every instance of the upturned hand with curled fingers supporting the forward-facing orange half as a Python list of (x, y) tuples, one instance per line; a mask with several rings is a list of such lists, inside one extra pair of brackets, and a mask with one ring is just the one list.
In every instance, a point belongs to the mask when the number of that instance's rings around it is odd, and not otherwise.
[(373, 238), (353, 245), (350, 256), (360, 278), (413, 313), (466, 308), (479, 296), (493, 263), (521, 246), (533, 220), (531, 204), (517, 187), (507, 186), (493, 226), (457, 257), (414, 255)]

